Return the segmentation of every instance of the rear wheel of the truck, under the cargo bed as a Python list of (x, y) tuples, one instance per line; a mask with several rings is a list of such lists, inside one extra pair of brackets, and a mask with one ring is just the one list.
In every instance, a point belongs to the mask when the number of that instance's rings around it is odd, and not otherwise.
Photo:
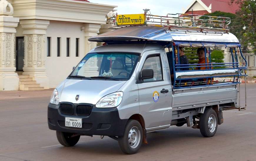
[(218, 117), (213, 109), (207, 109), (200, 117), (200, 132), (204, 137), (212, 137), (218, 128)]

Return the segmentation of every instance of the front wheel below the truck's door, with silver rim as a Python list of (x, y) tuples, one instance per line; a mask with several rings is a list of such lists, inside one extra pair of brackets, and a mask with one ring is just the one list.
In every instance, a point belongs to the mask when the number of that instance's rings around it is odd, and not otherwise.
[(118, 138), (121, 150), (126, 154), (135, 154), (142, 145), (143, 130), (137, 120), (128, 120), (124, 136)]

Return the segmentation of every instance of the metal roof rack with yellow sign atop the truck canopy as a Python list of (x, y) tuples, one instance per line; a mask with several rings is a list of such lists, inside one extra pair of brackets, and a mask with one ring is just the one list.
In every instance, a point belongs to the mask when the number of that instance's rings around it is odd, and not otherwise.
[(127, 26), (158, 26), (169, 31), (203, 32), (210, 34), (228, 33), (231, 19), (228, 17), (204, 16), (185, 13), (168, 13), (166, 16), (152, 15), (149, 9), (144, 14), (117, 15), (108, 18), (110, 28), (117, 29)]

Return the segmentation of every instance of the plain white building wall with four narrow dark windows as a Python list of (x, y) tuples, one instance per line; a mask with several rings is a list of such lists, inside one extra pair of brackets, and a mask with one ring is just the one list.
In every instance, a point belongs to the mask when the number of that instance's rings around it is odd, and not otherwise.
[[(55, 88), (61, 81), (67, 78), (72, 72), (72, 67), (87, 54), (85, 52), (84, 30), (81, 27), (84, 23), (73, 23), (63, 21), (50, 21), (45, 36), (51, 37), (50, 56), (46, 56), (45, 66), (47, 76), (49, 77), (49, 87)], [(60, 56), (57, 57), (57, 37), (61, 37)], [(70, 55), (67, 57), (67, 37), (70, 38)], [(79, 56), (76, 57), (76, 38), (79, 38)], [(47, 44), (45, 45), (47, 52)]]

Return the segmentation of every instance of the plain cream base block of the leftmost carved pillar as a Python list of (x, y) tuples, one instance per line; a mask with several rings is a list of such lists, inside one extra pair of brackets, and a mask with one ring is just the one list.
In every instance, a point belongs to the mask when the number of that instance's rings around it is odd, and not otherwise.
[(0, 73), (0, 91), (19, 90), (19, 77), (17, 73)]

